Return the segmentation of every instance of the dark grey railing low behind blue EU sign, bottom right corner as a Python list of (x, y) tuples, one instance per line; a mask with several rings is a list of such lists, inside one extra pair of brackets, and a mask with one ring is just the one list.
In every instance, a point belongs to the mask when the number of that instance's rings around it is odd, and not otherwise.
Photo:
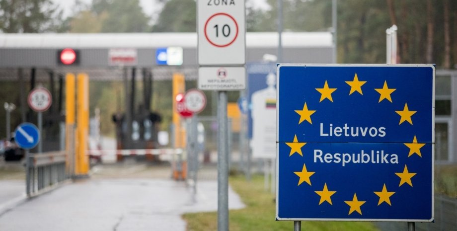
[[(381, 231), (406, 231), (406, 222), (378, 222)], [(435, 222), (416, 223), (416, 231), (451, 231), (457, 229), (457, 198), (435, 196)]]

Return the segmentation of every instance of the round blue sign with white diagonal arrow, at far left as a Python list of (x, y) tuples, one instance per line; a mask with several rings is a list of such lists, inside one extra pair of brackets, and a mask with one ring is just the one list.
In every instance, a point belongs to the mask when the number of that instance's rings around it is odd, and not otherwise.
[(14, 140), (22, 149), (33, 149), (40, 142), (40, 133), (35, 125), (22, 123), (14, 132)]

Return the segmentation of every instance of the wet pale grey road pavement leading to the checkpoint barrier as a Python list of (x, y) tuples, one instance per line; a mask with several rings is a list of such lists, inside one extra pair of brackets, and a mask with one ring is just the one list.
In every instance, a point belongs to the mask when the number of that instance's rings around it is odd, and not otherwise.
[[(217, 182), (88, 179), (67, 184), (0, 215), (1, 231), (185, 231), (183, 213), (217, 211)], [(229, 190), (229, 208), (244, 205)]]

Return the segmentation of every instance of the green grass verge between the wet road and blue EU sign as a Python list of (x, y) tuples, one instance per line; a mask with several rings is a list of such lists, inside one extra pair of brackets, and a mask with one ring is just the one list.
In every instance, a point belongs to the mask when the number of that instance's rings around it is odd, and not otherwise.
[[(230, 231), (291, 231), (293, 222), (275, 221), (276, 205), (273, 195), (265, 192), (263, 177), (254, 176), (251, 182), (244, 176), (230, 177), (231, 187), (238, 193), (246, 208), (230, 210)], [(216, 231), (217, 213), (185, 214), (188, 231)], [(377, 231), (369, 222), (302, 222), (305, 231)]]

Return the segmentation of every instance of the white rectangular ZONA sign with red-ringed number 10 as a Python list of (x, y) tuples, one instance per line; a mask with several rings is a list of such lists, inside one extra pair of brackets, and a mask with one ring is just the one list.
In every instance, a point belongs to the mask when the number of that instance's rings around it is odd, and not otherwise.
[(245, 0), (197, 0), (199, 65), (246, 63)]

